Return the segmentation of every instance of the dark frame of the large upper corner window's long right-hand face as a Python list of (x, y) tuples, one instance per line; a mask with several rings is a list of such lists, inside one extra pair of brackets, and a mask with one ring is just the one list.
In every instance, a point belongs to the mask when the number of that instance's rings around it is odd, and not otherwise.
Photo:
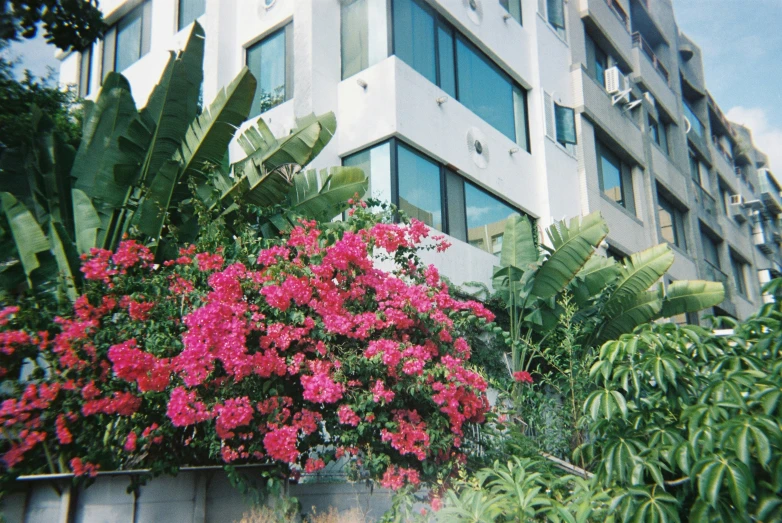
[[(389, 38), (391, 40), (391, 46), (389, 48), (389, 56), (398, 56), (397, 51), (397, 45), (396, 45), (396, 20), (394, 19), (394, 4), (396, 1), (400, 0), (389, 0), (388, 6), (389, 6)], [(511, 105), (513, 106), (513, 123), (514, 123), (514, 137), (511, 138), (507, 136), (504, 132), (500, 131), (496, 127), (494, 127), (492, 124), (490, 124), (488, 121), (486, 121), (483, 117), (478, 115), (473, 109), (465, 105), (465, 107), (478, 116), (481, 120), (486, 122), (488, 125), (492, 126), (493, 128), (497, 129), (503, 136), (506, 136), (508, 139), (514, 141), (519, 146), (523, 145), (524, 150), (526, 150), (528, 153), (532, 153), (532, 140), (530, 137), (530, 117), (529, 117), (529, 90), (524, 88), (521, 84), (519, 84), (510, 74), (508, 74), (505, 69), (503, 69), (499, 64), (497, 64), (494, 60), (492, 60), (483, 50), (481, 50), (475, 43), (470, 40), (462, 31), (460, 31), (454, 24), (452, 24), (449, 20), (447, 20), (443, 15), (441, 15), (439, 12), (437, 12), (426, 0), (403, 0), (407, 2), (412, 2), (416, 5), (418, 5), (424, 12), (426, 12), (429, 16), (433, 19), (433, 30), (432, 30), (432, 39), (434, 40), (434, 70), (435, 70), (435, 82), (434, 84), (440, 87), (441, 89), (445, 90), (442, 85), (443, 81), (441, 78), (442, 69), (440, 63), (440, 38), (439, 38), (439, 30), (442, 28), (446, 31), (449, 31), (451, 34), (452, 39), (452, 56), (453, 56), (453, 75), (454, 75), (454, 92), (448, 93), (451, 96), (453, 96), (454, 99), (459, 101), (460, 103), (460, 95), (459, 95), (459, 54), (458, 54), (458, 45), (457, 43), (461, 41), (465, 47), (467, 47), (471, 52), (473, 52), (478, 58), (480, 58), (486, 65), (488, 65), (490, 68), (494, 69), (496, 72), (500, 74), (500, 76), (503, 77), (504, 80), (508, 82), (508, 84), (511, 86)], [(400, 60), (402, 60), (400, 58)], [(404, 60), (402, 60), (404, 61)], [(405, 62), (407, 63), (407, 62)], [(410, 67), (413, 67), (413, 65), (410, 65)], [(420, 73), (419, 73), (420, 74)], [(523, 127), (521, 126), (520, 122), (516, 121), (516, 107), (513, 101), (513, 93), (520, 92), (521, 98), (522, 98), (522, 105), (523, 105), (523, 111), (524, 111), (524, 123)], [(519, 139), (521, 138), (519, 136), (519, 131), (523, 131), (524, 133), (524, 144), (519, 143)]]

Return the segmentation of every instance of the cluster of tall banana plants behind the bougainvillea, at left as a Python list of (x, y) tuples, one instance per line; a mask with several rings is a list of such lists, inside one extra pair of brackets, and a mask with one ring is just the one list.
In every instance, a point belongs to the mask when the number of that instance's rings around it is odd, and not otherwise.
[(79, 256), (92, 248), (115, 250), (126, 234), (148, 244), (158, 260), (176, 256), (178, 244), (197, 236), (199, 205), (219, 211), (229, 228), (239, 225), (234, 218), (243, 217), (237, 213), (243, 206), (279, 206), (257, 224), (259, 233), (276, 235), (296, 216), (328, 220), (366, 191), (366, 175), (357, 168), (302, 171), (333, 136), (333, 113), (300, 119), (279, 140), (259, 120), (239, 136), (247, 157), (227, 165), (256, 81), (244, 68), (197, 114), (203, 54), (204, 31), (196, 22), (141, 110), (128, 81), (110, 73), (95, 103), (86, 105), (78, 151), (47, 116), (36, 116), (33, 145), (14, 151), (24, 160), (3, 162), (0, 178), (6, 293), (46, 290), (72, 300), (82, 285)]

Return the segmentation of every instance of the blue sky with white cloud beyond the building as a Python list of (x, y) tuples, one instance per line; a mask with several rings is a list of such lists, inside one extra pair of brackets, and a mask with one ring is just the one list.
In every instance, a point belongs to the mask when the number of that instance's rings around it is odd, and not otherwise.
[[(731, 121), (752, 129), (755, 144), (782, 176), (782, 0), (673, 0), (680, 29), (701, 47), (706, 85)], [(59, 62), (39, 36), (6, 51), (21, 73), (45, 76)]]

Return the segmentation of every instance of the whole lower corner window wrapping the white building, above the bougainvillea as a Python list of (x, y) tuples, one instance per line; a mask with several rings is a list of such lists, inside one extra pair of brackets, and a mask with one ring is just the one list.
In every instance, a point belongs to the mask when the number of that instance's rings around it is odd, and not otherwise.
[(342, 164), (364, 169), (373, 198), (392, 200), (408, 216), (490, 254), (502, 250), (505, 220), (520, 213), (397, 139), (347, 156)]

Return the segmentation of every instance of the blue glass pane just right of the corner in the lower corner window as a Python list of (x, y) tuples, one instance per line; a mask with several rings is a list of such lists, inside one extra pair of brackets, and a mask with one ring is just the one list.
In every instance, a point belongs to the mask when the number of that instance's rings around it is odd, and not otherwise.
[(405, 145), (397, 152), (399, 208), (411, 218), (443, 230), (440, 166)]

